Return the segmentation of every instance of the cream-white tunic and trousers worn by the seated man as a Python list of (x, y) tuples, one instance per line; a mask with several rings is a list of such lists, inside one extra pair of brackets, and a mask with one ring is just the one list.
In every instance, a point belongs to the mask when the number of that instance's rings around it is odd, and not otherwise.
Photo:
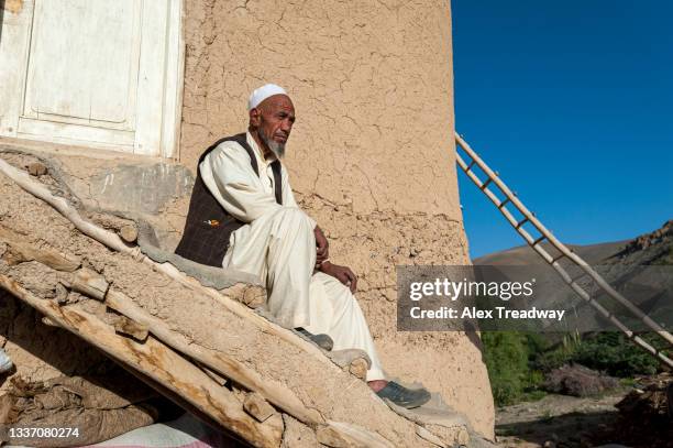
[(372, 359), (367, 381), (384, 379), (357, 301), (336, 278), (315, 271), (316, 221), (298, 207), (285, 166), (279, 205), (271, 166), (275, 159), (264, 159), (250, 132), (246, 141), (257, 161), (258, 176), (247, 152), (234, 141), (221, 143), (199, 165), (216, 199), (247, 222), (232, 233), (223, 267), (247, 272), (266, 284), (266, 307), (279, 325), (327, 334), (334, 340), (334, 350), (364, 350)]

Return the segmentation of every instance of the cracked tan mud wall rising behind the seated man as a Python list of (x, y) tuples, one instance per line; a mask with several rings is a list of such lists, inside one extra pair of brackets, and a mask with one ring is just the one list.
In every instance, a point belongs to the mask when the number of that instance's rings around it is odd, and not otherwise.
[(285, 161), (302, 207), (360, 274), (388, 373), (418, 380), (493, 435), (478, 338), (396, 334), (396, 264), (468, 262), (453, 142), (448, 1), (185, 3), (180, 162), (246, 127), (250, 91), (283, 85), (297, 123)]

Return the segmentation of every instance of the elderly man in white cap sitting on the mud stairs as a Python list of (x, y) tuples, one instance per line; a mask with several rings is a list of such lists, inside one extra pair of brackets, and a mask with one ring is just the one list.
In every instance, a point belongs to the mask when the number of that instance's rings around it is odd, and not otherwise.
[(334, 350), (364, 350), (372, 360), (369, 386), (398, 405), (420, 406), (428, 391), (386, 381), (353, 296), (357, 277), (329, 260), (322, 230), (295, 201), (280, 163), (295, 123), (293, 101), (283, 88), (265, 85), (253, 91), (247, 109), (247, 132), (219, 140), (199, 159), (176, 253), (257, 276), (279, 325), (327, 349), (326, 341), (333, 341)]

